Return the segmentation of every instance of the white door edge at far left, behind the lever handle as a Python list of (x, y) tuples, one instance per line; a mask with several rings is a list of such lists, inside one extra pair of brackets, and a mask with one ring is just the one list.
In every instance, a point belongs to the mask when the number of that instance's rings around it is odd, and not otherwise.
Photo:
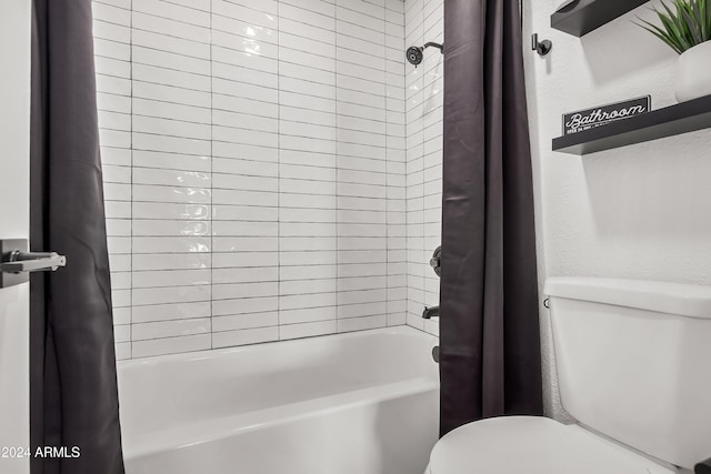
[[(0, 239), (29, 238), (30, 4), (0, 0)], [(29, 283), (0, 289), (2, 474), (30, 472), (12, 457), (30, 442), (29, 293)]]

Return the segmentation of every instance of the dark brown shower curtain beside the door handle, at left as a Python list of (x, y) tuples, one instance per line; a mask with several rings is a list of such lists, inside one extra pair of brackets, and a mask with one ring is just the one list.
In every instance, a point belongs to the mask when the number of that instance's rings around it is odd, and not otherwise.
[[(33, 474), (123, 473), (91, 0), (33, 0), (30, 242), (67, 268), (30, 281)], [(79, 448), (79, 456), (73, 447)]]

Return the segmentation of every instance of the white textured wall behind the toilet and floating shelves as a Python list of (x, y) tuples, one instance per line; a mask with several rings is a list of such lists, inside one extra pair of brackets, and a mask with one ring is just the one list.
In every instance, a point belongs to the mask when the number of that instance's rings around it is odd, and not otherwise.
[[(632, 24), (651, 2), (582, 39), (551, 30), (560, 3), (524, 3), (524, 39), (553, 41), (541, 59), (525, 51), (534, 164), (540, 283), (549, 275), (599, 275), (711, 284), (711, 132), (574, 157), (551, 151), (561, 114), (652, 95), (675, 102), (677, 56)], [(525, 44), (524, 44), (525, 48)], [(549, 411), (560, 414), (547, 312), (542, 311)]]

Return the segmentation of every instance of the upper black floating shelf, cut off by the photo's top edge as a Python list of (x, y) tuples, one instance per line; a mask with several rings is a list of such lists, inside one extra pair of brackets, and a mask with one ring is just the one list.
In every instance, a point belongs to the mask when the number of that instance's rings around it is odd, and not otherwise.
[(551, 16), (551, 27), (582, 37), (649, 0), (573, 0)]

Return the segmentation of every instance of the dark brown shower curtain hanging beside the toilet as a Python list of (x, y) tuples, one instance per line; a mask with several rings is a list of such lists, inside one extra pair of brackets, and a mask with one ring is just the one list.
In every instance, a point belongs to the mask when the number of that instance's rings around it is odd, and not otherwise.
[(444, 1), (441, 434), (542, 414), (518, 0)]

